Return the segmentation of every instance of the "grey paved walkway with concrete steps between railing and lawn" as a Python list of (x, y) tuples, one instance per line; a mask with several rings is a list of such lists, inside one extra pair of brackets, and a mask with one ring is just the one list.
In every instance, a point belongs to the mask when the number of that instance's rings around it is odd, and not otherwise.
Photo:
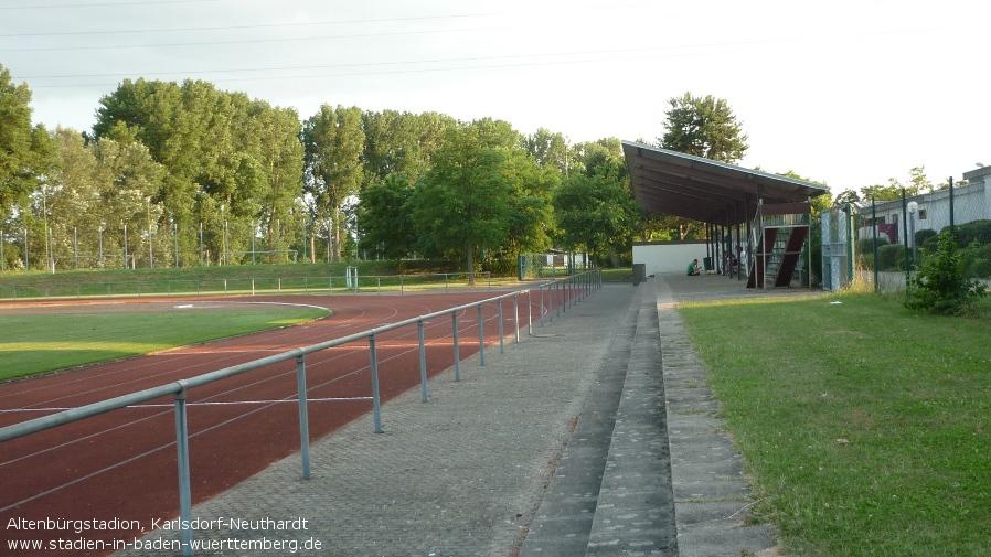
[[(194, 533), (213, 548), (195, 555), (739, 556), (771, 547), (768, 529), (742, 525), (753, 503), (742, 462), (720, 433), (673, 304), (679, 291), (715, 296), (737, 285), (691, 279), (607, 285), (521, 343), (509, 340), (504, 354), (488, 350), (486, 366), (477, 355), (465, 361), (460, 382), (452, 371), (436, 376), (429, 403), (414, 389), (385, 404), (383, 433), (365, 416), (313, 443), (309, 481), (295, 456), (196, 506), (194, 517), (214, 522)], [(231, 518), (255, 527), (232, 528)]]

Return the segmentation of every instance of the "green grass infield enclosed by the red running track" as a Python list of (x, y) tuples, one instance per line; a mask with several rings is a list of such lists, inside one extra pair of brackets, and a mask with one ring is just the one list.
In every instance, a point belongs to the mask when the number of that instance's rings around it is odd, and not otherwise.
[(306, 308), (160, 313), (0, 314), (0, 381), (311, 321)]

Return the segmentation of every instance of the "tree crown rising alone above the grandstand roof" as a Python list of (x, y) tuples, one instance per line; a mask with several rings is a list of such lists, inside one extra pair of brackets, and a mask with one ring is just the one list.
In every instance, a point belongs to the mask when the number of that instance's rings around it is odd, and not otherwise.
[(695, 157), (735, 163), (749, 146), (740, 122), (723, 99), (685, 93), (669, 100), (667, 132), (658, 146)]

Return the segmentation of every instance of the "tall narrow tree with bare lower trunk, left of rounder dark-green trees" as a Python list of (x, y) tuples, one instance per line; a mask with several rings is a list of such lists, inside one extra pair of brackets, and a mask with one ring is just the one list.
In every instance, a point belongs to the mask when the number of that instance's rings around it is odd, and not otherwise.
[(323, 105), (303, 122), (306, 149), (305, 191), (312, 195), (315, 216), (329, 223), (331, 260), (341, 260), (342, 214), (347, 199), (359, 192), (362, 182), (361, 154), (365, 135), (361, 109)]

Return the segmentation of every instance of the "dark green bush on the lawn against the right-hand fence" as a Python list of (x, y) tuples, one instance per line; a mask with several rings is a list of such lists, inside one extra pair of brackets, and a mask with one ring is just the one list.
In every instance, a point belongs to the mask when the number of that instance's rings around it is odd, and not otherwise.
[(970, 302), (984, 296), (983, 285), (965, 276), (965, 256), (957, 242), (944, 232), (936, 254), (923, 259), (918, 272), (908, 281), (909, 309), (934, 313), (959, 313)]

